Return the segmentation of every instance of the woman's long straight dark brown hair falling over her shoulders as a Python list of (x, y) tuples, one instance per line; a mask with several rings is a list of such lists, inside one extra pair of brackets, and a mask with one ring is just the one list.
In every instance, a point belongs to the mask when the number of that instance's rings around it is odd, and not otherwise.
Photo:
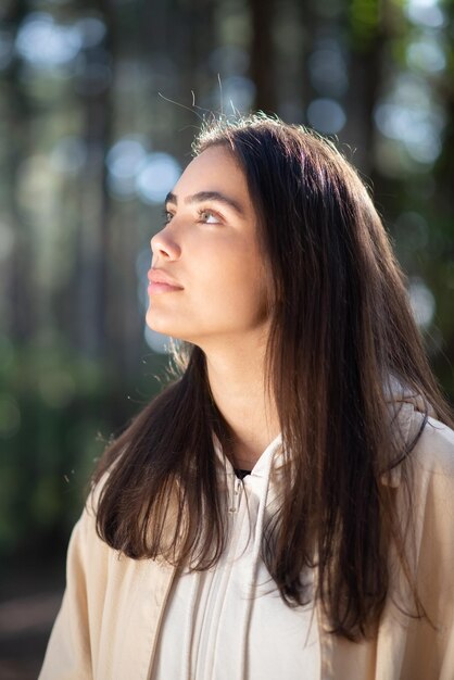
[[(263, 558), (289, 605), (307, 602), (303, 575), (314, 567), (332, 632), (356, 639), (382, 610), (391, 542), (409, 575), (396, 491), (382, 482), (400, 465), (411, 488), (417, 437), (400, 437), (392, 382), (451, 424), (450, 411), (382, 223), (333, 144), (263, 115), (205, 123), (194, 153), (213, 144), (244, 172), (274, 280), (267, 379), (287, 463)], [(105, 452), (94, 475), (103, 479), (97, 526), (133, 558), (205, 569), (228, 538), (213, 433), (227, 445), (229, 432), (202, 350), (186, 349), (179, 379)]]

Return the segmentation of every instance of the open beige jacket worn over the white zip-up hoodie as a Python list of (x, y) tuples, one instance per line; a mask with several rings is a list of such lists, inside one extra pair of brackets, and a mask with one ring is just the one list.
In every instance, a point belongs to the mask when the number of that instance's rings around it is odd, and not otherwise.
[[(401, 423), (412, 437), (423, 421), (418, 400), (399, 401)], [(316, 605), (320, 680), (454, 680), (454, 432), (429, 418), (411, 461), (413, 567), (433, 626), (408, 618), (389, 597), (376, 637), (351, 643), (327, 632)], [(383, 483), (399, 494), (399, 468)], [(402, 493), (400, 506), (404, 514)], [(174, 575), (165, 563), (129, 559), (100, 541), (87, 505), (71, 539), (66, 592), (39, 680), (150, 680)]]

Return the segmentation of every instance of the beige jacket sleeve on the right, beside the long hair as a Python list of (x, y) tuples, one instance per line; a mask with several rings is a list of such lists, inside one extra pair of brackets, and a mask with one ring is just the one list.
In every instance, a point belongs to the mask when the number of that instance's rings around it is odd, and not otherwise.
[(429, 418), (409, 463), (411, 492), (400, 498), (402, 517), (409, 500), (415, 518), (407, 558), (426, 616), (399, 579), (380, 625), (375, 677), (454, 680), (454, 432)]

